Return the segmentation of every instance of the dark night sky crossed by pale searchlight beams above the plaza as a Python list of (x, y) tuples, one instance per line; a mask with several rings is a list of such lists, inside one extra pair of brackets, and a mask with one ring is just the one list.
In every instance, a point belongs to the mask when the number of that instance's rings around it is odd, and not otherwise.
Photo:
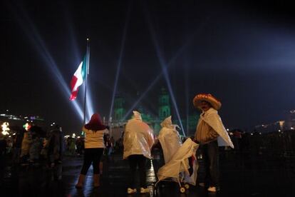
[[(89, 37), (88, 90), (101, 116), (109, 116), (120, 65), (126, 109), (168, 66), (182, 118), (195, 111), (195, 94), (211, 93), (229, 128), (283, 119), (295, 108), (295, 17), (286, 1), (254, 2), (1, 1), (0, 112), (80, 131), (66, 89)], [(162, 87), (163, 75), (141, 102), (154, 115)], [(77, 101), (82, 107), (83, 89)]]

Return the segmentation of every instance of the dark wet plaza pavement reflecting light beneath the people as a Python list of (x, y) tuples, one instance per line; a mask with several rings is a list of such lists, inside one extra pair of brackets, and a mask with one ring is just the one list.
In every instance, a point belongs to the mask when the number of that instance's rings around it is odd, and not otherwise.
[[(162, 165), (161, 156), (155, 155), (147, 162), (148, 194), (126, 193), (128, 187), (128, 161), (120, 153), (103, 161), (100, 187), (93, 188), (92, 168), (86, 176), (83, 189), (75, 188), (83, 163), (83, 156), (66, 156), (62, 164), (62, 177), (53, 176), (45, 166), (6, 166), (1, 195), (4, 196), (295, 196), (294, 156), (276, 156), (274, 153), (241, 157), (234, 153), (220, 155), (220, 188), (218, 193), (208, 193), (200, 186), (190, 186), (180, 193), (177, 183), (162, 183), (152, 192), (155, 171)], [(202, 174), (202, 160), (200, 160)], [(61, 167), (61, 166), (60, 166)]]

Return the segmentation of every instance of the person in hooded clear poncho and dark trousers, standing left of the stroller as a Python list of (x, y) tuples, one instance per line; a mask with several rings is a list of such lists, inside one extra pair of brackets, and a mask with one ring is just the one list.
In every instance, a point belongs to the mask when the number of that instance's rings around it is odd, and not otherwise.
[(125, 126), (124, 133), (124, 153), (123, 158), (130, 164), (131, 181), (128, 193), (135, 193), (135, 171), (138, 166), (140, 171), (140, 193), (148, 193), (149, 190), (145, 183), (145, 161), (152, 158), (150, 148), (154, 143), (153, 132), (147, 123), (143, 122), (138, 111), (133, 111), (131, 118)]

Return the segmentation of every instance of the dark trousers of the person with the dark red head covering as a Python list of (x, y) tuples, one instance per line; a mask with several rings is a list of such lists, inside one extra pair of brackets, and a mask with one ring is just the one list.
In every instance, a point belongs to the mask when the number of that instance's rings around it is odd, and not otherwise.
[(81, 174), (86, 175), (91, 163), (93, 166), (93, 173), (99, 173), (99, 161), (103, 154), (103, 148), (85, 148), (84, 149), (84, 162)]

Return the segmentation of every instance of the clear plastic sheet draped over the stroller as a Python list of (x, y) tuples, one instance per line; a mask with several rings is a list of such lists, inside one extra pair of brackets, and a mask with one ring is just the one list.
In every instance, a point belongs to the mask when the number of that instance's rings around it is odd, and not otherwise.
[[(197, 180), (197, 158), (196, 151), (199, 145), (187, 138), (185, 143), (182, 144), (176, 153), (172, 156), (170, 161), (162, 166), (157, 171), (157, 178), (162, 181), (166, 178), (175, 178), (178, 183), (181, 181), (190, 183), (195, 186)], [(189, 173), (189, 159), (192, 156), (192, 174)]]

